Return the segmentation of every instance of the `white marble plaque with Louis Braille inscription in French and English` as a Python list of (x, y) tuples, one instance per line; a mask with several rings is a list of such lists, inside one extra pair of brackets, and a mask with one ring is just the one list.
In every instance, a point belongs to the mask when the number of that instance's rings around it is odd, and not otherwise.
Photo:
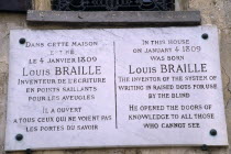
[(216, 26), (13, 30), (6, 150), (228, 145)]

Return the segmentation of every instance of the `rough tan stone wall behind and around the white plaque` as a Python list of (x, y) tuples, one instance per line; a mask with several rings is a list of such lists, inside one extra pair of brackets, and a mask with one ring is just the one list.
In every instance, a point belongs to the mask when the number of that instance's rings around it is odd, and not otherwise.
[[(220, 54), (222, 65), (224, 103), (229, 140), (231, 141), (231, 1), (230, 0), (182, 0), (188, 10), (199, 10), (202, 24), (215, 24), (220, 30)], [(25, 22), (25, 14), (0, 12), (0, 154), (3, 154), (9, 31), (13, 29), (75, 29), (68, 25), (31, 25)], [(36, 139), (35, 139), (36, 140)], [(190, 139), (188, 139), (190, 140)], [(18, 152), (23, 153), (23, 152)], [(228, 147), (154, 147), (154, 148), (105, 148), (105, 150), (68, 150), (40, 151), (37, 154), (229, 154)], [(16, 153), (15, 153), (16, 154)]]

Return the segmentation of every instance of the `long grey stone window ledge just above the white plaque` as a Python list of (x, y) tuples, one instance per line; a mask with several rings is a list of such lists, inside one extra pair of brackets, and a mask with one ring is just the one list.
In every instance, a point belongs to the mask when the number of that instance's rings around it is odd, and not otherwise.
[(29, 22), (111, 25), (199, 25), (199, 11), (28, 11)]

